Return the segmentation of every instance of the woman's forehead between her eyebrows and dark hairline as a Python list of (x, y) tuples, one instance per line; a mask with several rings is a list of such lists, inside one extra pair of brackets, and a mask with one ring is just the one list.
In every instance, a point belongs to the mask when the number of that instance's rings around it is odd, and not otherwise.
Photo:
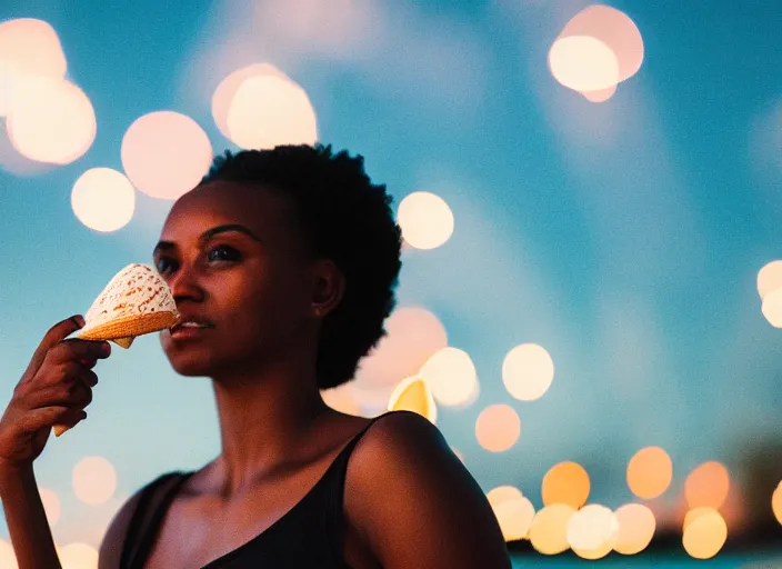
[(203, 231), (224, 223), (247, 226), (264, 240), (285, 240), (294, 232), (293, 204), (263, 186), (213, 181), (179, 198), (166, 219), (161, 240), (197, 239)]

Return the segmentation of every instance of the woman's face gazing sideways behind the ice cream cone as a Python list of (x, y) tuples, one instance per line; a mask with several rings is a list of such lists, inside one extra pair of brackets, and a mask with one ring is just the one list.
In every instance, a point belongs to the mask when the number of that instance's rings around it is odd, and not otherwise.
[(284, 196), (234, 182), (200, 186), (172, 207), (153, 261), (182, 321), (207, 326), (181, 337), (161, 332), (177, 372), (237, 375), (314, 349), (314, 263)]

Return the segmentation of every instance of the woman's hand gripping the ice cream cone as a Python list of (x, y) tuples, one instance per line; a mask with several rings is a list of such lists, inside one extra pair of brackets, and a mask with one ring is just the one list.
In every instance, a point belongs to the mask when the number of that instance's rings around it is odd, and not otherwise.
[(107, 341), (64, 339), (83, 326), (80, 316), (54, 325), (33, 353), (0, 418), (0, 466), (32, 465), (52, 426), (73, 427), (87, 418), (83, 409), (98, 383), (92, 368), (109, 357), (111, 347)]

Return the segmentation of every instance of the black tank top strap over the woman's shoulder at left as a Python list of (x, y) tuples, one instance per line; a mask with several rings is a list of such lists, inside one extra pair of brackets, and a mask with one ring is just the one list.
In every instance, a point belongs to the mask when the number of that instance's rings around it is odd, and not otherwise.
[(141, 490), (126, 532), (120, 569), (140, 569), (147, 560), (163, 516), (188, 476), (180, 471), (167, 472)]

